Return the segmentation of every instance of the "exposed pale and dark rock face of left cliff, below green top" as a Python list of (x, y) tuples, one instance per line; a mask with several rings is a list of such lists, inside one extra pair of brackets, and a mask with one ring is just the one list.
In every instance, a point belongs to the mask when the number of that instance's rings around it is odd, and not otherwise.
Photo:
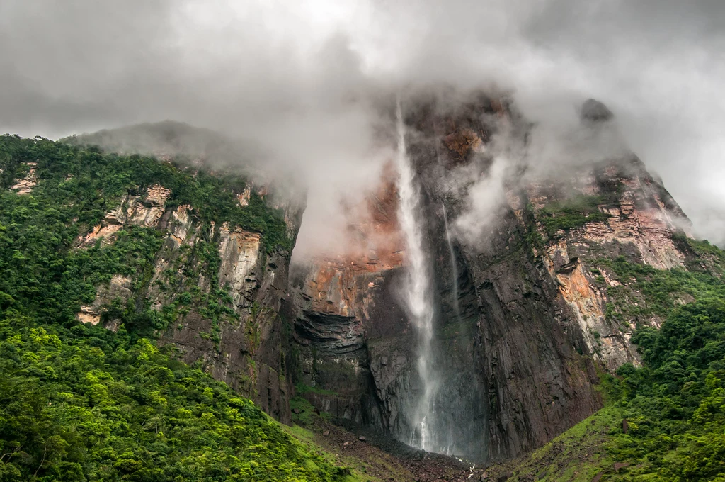
[[(248, 202), (248, 191), (239, 194), (241, 205)], [(169, 315), (169, 326), (157, 330), (159, 344), (173, 346), (183, 362), (202, 364), (265, 412), (289, 422), (291, 381), (283, 349), (289, 330), (279, 315), (287, 295), (289, 253), (268, 253), (258, 232), (215, 225), (189, 205), (167, 205), (170, 195), (159, 185), (127, 195), (101, 224), (78, 238), (77, 249), (110, 245), (122, 229), (137, 226), (162, 242), (152, 266), (136, 275), (117, 274), (97, 287), (95, 301), (82, 306), (77, 318), (118, 330), (114, 305), (131, 303)], [(286, 210), (293, 235), (300, 214)]]

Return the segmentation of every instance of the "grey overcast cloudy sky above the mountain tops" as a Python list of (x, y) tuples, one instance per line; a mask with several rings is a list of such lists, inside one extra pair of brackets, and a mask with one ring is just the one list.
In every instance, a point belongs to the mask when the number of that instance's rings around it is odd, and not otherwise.
[(513, 89), (543, 123), (601, 100), (725, 240), (722, 0), (0, 2), (0, 131), (24, 136), (183, 120), (339, 186), (384, 158), (366, 98), (435, 82)]

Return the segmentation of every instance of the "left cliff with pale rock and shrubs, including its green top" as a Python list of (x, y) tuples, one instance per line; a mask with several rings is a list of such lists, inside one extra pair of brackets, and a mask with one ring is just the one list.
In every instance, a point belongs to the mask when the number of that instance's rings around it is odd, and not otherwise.
[(231, 172), (9, 140), (6, 186), (57, 205), (59, 249), (87, 266), (75, 319), (155, 339), (289, 423), (279, 313), (302, 205)]

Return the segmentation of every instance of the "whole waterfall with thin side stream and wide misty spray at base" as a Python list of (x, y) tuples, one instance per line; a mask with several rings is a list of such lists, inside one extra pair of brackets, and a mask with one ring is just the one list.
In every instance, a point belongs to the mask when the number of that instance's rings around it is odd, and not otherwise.
[[(399, 98), (396, 116), (398, 222), (406, 243), (407, 268), (400, 294), (415, 335), (411, 347), (415, 350), (415, 366), (410, 367), (410, 372), (400, 372), (401, 393), (396, 400), (399, 410), (394, 420), (394, 433), (399, 440), (427, 452), (478, 458), (486, 447), (487, 399), (481, 391), (471, 390), (479, 380), (479, 373), (473, 366), (472, 357), (468, 356), (470, 353), (458, 351), (468, 346), (473, 353), (475, 346), (470, 338), (467, 340), (465, 335), (459, 335), (458, 326), (452, 326), (452, 332), (446, 330), (447, 326), (441, 327), (434, 338), (437, 306), (433, 276), (436, 265), (426, 250), (426, 206), (422, 205), (421, 182), (407, 152), (406, 126)], [(455, 309), (459, 314), (458, 264), (445, 205), (443, 217)], [(456, 321), (460, 322), (460, 318)]]

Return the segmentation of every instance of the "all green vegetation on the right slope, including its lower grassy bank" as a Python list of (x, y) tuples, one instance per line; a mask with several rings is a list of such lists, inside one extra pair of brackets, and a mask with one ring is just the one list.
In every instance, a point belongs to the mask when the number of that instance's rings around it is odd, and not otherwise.
[(665, 321), (634, 333), (641, 367), (602, 375), (606, 407), (515, 465), (513, 481), (725, 481), (725, 253), (687, 242), (700, 271), (599, 260), (642, 297), (612, 298), (618, 316)]

